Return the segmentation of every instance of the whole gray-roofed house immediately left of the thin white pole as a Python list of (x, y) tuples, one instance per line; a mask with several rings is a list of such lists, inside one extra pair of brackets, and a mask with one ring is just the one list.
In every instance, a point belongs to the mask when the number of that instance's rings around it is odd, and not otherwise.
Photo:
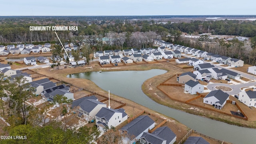
[(93, 120), (103, 107), (107, 107), (107, 104), (99, 102), (96, 96), (86, 96), (72, 102), (72, 109), (76, 108), (78, 110), (78, 116), (85, 116), (89, 120)]

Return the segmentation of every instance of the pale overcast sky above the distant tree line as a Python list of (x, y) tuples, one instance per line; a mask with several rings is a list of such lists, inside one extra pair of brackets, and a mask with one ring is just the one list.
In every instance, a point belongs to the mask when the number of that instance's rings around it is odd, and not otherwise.
[(1, 0), (0, 16), (256, 15), (255, 0)]

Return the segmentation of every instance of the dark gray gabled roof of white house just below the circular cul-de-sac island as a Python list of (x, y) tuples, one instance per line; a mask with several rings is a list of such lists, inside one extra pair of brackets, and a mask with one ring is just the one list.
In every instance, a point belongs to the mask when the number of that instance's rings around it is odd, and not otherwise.
[(211, 96), (214, 96), (215, 98), (217, 98), (219, 100), (218, 103), (222, 105), (228, 99), (229, 94), (227, 94), (226, 92), (223, 92), (222, 90), (214, 90), (214, 91), (211, 91), (209, 94), (207, 94), (204, 98), (208, 98)]

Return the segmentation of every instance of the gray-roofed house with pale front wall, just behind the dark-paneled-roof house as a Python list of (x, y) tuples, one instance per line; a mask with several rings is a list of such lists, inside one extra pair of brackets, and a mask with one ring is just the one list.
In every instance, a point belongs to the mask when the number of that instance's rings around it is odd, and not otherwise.
[(41, 80), (36, 80), (33, 82), (30, 82), (30, 87), (32, 87), (32, 92), (35, 95), (41, 94), (46, 89), (53, 88), (56, 86), (56, 83), (53, 83), (48, 78), (44, 78)]

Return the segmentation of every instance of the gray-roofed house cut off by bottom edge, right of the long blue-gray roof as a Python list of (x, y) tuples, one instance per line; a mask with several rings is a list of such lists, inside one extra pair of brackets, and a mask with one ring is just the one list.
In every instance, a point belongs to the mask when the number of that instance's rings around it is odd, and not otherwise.
[(154, 132), (144, 132), (140, 137), (141, 144), (174, 144), (176, 134), (167, 126), (159, 127)]

